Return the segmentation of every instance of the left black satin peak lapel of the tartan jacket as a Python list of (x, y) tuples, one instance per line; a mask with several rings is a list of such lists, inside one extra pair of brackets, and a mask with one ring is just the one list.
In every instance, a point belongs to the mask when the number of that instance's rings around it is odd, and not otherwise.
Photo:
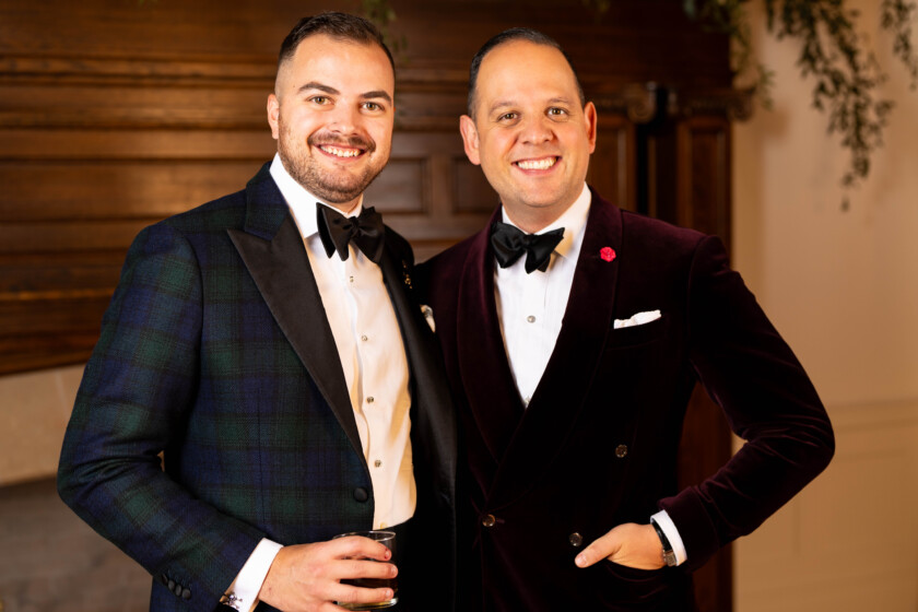
[(363, 457), (338, 348), (293, 219), (287, 214), (272, 240), (238, 229), (227, 232), (274, 320), (328, 401), (354, 450)]

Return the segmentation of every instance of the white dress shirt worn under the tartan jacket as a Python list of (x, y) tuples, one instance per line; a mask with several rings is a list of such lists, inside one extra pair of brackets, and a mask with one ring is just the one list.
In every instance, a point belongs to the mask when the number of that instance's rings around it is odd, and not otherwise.
[[(342, 261), (328, 257), (318, 233), (318, 198), (303, 188), (275, 155), (271, 177), (303, 236), (334, 337), (364, 457), (373, 482), (373, 528), (385, 529), (414, 516), (416, 487), (411, 458), (411, 396), (408, 358), (396, 311), (379, 266), (349, 245)], [(363, 200), (345, 214), (355, 216)], [(340, 212), (340, 211), (339, 211)], [(262, 540), (231, 586), (239, 610), (251, 610), (281, 545)]]

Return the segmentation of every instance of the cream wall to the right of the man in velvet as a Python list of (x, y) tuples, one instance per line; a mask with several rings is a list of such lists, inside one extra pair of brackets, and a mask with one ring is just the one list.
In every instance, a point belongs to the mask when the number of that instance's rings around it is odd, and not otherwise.
[(777, 74), (774, 110), (733, 132), (733, 263), (812, 376), (837, 451), (737, 544), (737, 612), (918, 610), (918, 92), (880, 3), (849, 4), (896, 107), (846, 212), (848, 156), (810, 107), (800, 47), (768, 35), (762, 0), (750, 3), (758, 57)]

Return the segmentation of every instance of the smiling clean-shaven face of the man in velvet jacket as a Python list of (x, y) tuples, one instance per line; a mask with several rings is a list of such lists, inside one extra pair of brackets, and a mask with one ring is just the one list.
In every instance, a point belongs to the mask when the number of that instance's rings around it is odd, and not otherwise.
[(466, 154), (480, 164), (510, 219), (536, 232), (580, 195), (596, 149), (596, 108), (581, 106), (557, 49), (513, 40), (481, 62), (475, 118), (462, 116)]

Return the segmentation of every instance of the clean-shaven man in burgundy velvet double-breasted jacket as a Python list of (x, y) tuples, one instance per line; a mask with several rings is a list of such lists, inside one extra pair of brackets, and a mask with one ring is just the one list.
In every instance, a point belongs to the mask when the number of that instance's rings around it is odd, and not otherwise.
[[(691, 572), (825, 468), (826, 413), (719, 239), (586, 186), (596, 108), (554, 40), (491, 39), (469, 92), (502, 207), (419, 278), (464, 422), (471, 609), (692, 610)], [(746, 442), (679, 491), (696, 381)]]

